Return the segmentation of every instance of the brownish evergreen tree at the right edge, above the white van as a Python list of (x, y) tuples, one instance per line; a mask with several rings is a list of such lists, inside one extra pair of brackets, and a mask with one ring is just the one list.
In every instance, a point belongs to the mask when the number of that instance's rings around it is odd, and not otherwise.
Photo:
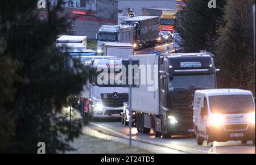
[(225, 25), (217, 40), (220, 87), (245, 88), (255, 93), (252, 6), (255, 0), (228, 0)]

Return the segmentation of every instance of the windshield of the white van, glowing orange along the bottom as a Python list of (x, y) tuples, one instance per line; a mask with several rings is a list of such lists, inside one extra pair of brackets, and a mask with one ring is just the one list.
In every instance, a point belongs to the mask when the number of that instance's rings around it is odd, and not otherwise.
[(238, 114), (255, 111), (251, 95), (210, 96), (209, 105), (213, 113)]

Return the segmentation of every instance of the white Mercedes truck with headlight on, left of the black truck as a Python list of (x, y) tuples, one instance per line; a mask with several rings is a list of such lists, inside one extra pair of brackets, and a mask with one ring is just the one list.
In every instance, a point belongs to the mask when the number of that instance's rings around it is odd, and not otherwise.
[[(121, 118), (123, 103), (129, 99), (128, 88), (122, 86), (122, 60), (94, 56), (84, 57), (81, 62), (95, 70), (88, 85), (84, 86), (84, 91), (80, 94), (81, 116), (92, 120)], [(117, 79), (118, 75), (121, 77)]]

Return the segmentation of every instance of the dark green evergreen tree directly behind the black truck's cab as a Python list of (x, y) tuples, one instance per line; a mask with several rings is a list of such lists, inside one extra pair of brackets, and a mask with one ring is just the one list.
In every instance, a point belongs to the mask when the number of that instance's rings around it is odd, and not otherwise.
[(209, 1), (185, 0), (186, 6), (178, 12), (178, 31), (185, 52), (214, 50), (214, 40), (224, 14), (225, 0), (216, 0), (217, 8), (210, 9)]

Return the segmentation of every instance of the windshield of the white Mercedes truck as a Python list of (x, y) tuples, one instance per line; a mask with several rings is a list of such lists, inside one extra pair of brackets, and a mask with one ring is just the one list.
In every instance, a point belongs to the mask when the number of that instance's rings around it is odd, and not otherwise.
[(122, 86), (122, 76), (120, 73), (97, 73), (96, 84), (98, 87), (121, 87)]

